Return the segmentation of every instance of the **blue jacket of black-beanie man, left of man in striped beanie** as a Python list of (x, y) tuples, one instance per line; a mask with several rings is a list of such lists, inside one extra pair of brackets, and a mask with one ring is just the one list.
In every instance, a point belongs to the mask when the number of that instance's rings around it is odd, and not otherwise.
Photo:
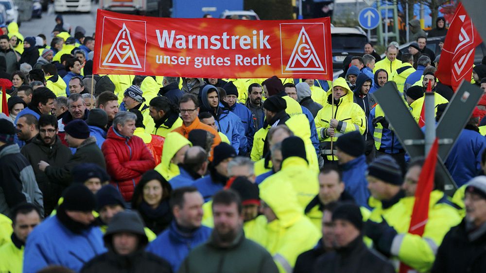
[(367, 169), (368, 164), (366, 164), (366, 157), (364, 155), (341, 165), (345, 191), (354, 197), (356, 204), (369, 208), (368, 181), (364, 177)]

